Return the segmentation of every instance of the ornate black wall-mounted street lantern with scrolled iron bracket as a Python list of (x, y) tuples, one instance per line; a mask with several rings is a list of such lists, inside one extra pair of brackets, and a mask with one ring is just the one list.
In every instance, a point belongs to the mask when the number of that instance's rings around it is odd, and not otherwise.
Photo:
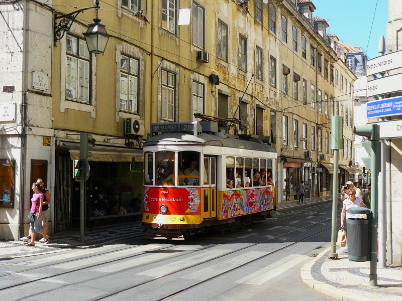
[[(86, 10), (96, 10), (96, 18), (93, 19), (93, 24), (88, 25), (88, 29), (83, 35), (90, 53), (95, 55), (103, 54), (110, 35), (106, 31), (105, 25), (100, 24), (100, 19), (98, 18), (99, 0), (96, 0), (95, 5), (95, 7), (84, 8), (66, 15), (57, 16), (57, 14), (54, 14), (54, 46), (57, 46), (57, 41), (61, 40), (65, 32), (71, 29), (72, 24), (80, 13)], [(57, 24), (56, 20), (59, 19), (61, 20)]]

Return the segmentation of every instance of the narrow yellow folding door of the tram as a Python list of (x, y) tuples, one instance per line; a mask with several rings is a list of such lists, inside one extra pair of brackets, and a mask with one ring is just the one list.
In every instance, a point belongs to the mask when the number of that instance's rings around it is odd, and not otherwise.
[(203, 219), (217, 216), (216, 162), (216, 156), (204, 155)]

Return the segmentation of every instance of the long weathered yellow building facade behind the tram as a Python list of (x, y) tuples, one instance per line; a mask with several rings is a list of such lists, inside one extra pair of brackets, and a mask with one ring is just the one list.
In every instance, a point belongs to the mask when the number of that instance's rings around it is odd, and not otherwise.
[[(96, 140), (85, 184), (86, 227), (138, 219), (149, 124), (197, 120), (194, 113), (238, 119), (223, 130), (272, 144), (279, 202), (295, 198), (302, 180), (306, 197), (331, 193), (330, 118), (340, 114), (336, 103), (350, 100), (347, 91), (336, 92), (335, 70), (347, 78), (348, 91), (355, 78), (331, 46), (327, 22), (313, 18), (310, 0), (194, 0), (190, 15), (187, 3), (181, 10), (171, 0), (106, 0), (98, 12), (111, 35), (104, 55), (88, 53), (82, 34), (95, 10), (79, 14), (54, 40), (55, 18), (58, 24), (74, 6), (94, 3), (0, 2), (8, 41), (0, 46), (0, 103), (15, 108), (15, 118), (0, 127), (7, 174), (0, 237), (27, 234), (37, 178), (51, 193), (49, 228), (78, 225), (80, 188), (72, 174), (80, 132)], [(344, 134), (352, 145), (349, 124)], [(345, 166), (353, 159), (342, 158)]]

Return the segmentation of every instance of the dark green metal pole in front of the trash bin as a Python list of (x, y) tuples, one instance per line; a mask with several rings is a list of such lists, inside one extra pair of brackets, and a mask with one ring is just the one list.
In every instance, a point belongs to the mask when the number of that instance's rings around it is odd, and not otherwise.
[(371, 141), (371, 260), (370, 283), (368, 287), (379, 288), (377, 284), (377, 214), (378, 214), (378, 172), (381, 160), (381, 142)]

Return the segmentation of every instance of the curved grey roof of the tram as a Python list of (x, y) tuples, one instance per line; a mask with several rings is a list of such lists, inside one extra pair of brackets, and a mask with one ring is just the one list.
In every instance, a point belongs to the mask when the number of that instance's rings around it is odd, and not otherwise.
[(144, 146), (152, 146), (164, 143), (179, 144), (179, 145), (200, 145), (200, 146), (212, 145), (222, 147), (234, 147), (234, 148), (260, 150), (262, 152), (270, 152), (276, 154), (276, 149), (268, 144), (261, 144), (258, 142), (243, 139), (234, 139), (228, 137), (224, 138), (207, 133), (202, 133), (197, 136), (177, 132), (162, 133), (150, 137), (144, 143)]

